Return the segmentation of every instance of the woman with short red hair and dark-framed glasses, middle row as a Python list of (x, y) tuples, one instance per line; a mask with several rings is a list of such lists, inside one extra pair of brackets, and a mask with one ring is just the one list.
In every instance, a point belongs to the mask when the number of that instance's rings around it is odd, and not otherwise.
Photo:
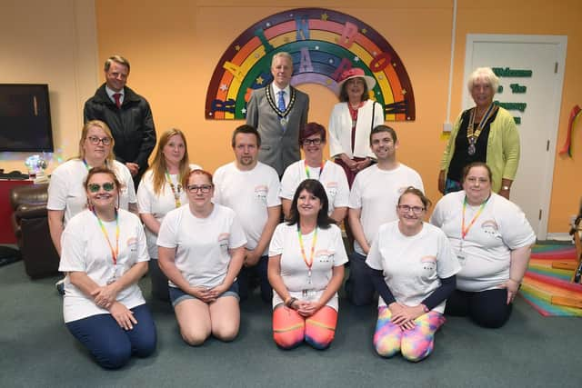
[(289, 165), (281, 179), (279, 196), (283, 214), (286, 218), (289, 217), (297, 186), (306, 179), (316, 179), (326, 190), (329, 200), (328, 215), (337, 224), (341, 223), (347, 214), (349, 186), (342, 167), (324, 159), (326, 128), (321, 124), (307, 123), (299, 131), (299, 146), (305, 159)]

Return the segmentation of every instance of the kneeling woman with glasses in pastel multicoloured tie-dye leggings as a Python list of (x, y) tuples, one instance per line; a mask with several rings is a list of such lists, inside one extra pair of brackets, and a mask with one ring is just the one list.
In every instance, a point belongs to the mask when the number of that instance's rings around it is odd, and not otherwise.
[(380, 226), (366, 258), (380, 294), (374, 346), (383, 357), (400, 352), (408, 361), (423, 360), (445, 323), (446, 299), (461, 266), (447, 236), (423, 222), (429, 204), (408, 187), (398, 199), (398, 220)]

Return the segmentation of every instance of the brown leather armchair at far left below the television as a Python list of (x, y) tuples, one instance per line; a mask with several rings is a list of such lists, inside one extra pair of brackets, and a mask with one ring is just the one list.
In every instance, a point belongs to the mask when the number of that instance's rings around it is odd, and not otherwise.
[(58, 274), (59, 257), (48, 230), (48, 184), (17, 186), (10, 193), (13, 228), (25, 271), (32, 279)]

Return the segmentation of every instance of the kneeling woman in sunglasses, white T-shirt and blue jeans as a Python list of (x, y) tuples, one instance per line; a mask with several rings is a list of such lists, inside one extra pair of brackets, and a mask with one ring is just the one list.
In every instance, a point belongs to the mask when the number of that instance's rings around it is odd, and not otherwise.
[(116, 208), (120, 189), (111, 170), (89, 171), (89, 209), (66, 224), (59, 265), (66, 327), (108, 369), (156, 350), (156, 326), (137, 286), (147, 272), (146, 234), (135, 214)]

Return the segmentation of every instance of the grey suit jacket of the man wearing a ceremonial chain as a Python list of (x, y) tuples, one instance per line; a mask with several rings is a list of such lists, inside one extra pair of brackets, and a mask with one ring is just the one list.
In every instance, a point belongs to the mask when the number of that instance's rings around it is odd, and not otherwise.
[[(269, 104), (266, 97), (267, 85), (256, 89), (246, 104), (246, 124), (253, 125), (261, 135), (261, 148), (258, 160), (276, 169), (279, 176), (283, 175), (289, 164), (301, 159), (299, 150), (299, 129), (307, 123), (309, 110), (309, 96), (291, 87), (291, 94), (295, 93), (295, 102), (289, 103), (289, 112), (286, 115), (286, 130), (283, 130), (281, 117), (274, 106)], [(270, 89), (271, 94), (273, 89)], [(276, 106), (276, 103), (275, 103)]]

